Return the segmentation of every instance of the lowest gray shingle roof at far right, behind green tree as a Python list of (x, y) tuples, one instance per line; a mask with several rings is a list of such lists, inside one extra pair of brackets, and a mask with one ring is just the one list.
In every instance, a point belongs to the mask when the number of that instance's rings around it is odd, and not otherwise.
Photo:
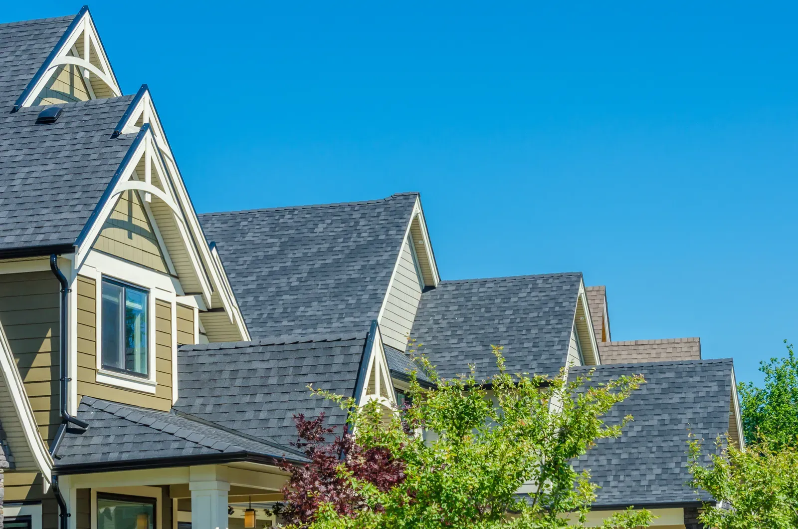
[[(590, 367), (571, 368), (569, 379)], [(732, 360), (685, 360), (646, 364), (613, 364), (596, 368), (591, 384), (640, 373), (646, 384), (615, 406), (606, 418), (617, 424), (626, 414), (634, 421), (618, 439), (599, 440), (579, 458), (575, 469), (591, 471), (597, 506), (696, 501), (686, 483), (687, 429), (703, 438), (705, 449), (729, 430)]]

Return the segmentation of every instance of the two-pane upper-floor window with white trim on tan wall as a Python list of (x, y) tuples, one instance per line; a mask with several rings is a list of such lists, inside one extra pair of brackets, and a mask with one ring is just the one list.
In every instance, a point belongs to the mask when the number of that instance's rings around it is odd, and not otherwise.
[(149, 376), (148, 293), (119, 281), (102, 280), (102, 367)]

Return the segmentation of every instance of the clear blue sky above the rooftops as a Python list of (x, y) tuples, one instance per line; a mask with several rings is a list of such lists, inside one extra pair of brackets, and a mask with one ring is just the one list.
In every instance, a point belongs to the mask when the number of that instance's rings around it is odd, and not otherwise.
[(798, 340), (798, 4), (644, 3), (89, 7), (200, 212), (417, 190), (444, 279), (581, 271), (614, 340), (759, 381)]

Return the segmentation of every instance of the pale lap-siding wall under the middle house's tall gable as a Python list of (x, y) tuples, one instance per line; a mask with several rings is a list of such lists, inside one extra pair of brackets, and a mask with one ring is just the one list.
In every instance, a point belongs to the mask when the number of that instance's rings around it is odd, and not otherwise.
[[(416, 319), (418, 303), (421, 300), (421, 285), (413, 263), (409, 238), (405, 239), (399, 256), (399, 266), (393, 276), (385, 309), (380, 318), (380, 330), (385, 344), (400, 351), (407, 348), (407, 338)], [(412, 336), (411, 336), (412, 338)]]

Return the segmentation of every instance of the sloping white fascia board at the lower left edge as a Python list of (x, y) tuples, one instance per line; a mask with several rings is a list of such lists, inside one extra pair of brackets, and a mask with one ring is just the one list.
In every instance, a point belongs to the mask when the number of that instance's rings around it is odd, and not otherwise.
[(36, 466), (41, 475), (44, 476), (46, 491), (49, 483), (52, 483), (53, 458), (49, 455), (44, 440), (41, 439), (34, 411), (30, 407), (30, 400), (28, 400), (28, 395), (25, 391), (25, 384), (23, 384), (22, 376), (19, 374), (17, 364), (14, 362), (14, 355), (11, 352), (2, 324), (0, 324), (0, 375), (2, 375), (3, 384), (8, 389), (11, 400), (14, 402), (14, 411), (22, 426), (22, 432), (25, 435), (28, 448), (34, 456)]

